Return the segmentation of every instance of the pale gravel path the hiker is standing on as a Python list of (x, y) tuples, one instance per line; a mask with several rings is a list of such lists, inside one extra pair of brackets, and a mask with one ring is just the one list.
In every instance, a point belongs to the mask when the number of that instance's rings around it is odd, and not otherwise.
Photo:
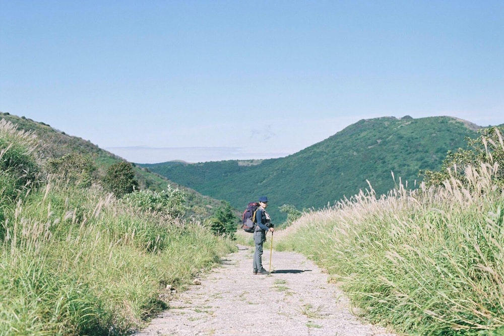
[(394, 335), (352, 315), (348, 299), (303, 255), (273, 251), (272, 274), (252, 275), (253, 252), (240, 246), (227, 255), (135, 335)]

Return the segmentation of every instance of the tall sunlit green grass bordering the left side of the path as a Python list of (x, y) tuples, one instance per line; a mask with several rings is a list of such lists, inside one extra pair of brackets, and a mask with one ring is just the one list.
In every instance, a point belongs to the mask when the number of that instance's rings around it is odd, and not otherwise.
[(70, 189), (48, 184), (3, 224), (0, 335), (127, 333), (166, 307), (167, 284), (182, 288), (232, 250), (198, 223)]

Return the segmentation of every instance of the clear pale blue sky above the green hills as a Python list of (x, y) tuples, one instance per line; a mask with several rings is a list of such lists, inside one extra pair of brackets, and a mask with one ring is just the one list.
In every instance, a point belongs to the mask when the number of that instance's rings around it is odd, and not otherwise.
[(282, 157), (363, 118), (504, 123), (502, 1), (0, 1), (0, 111), (129, 161)]

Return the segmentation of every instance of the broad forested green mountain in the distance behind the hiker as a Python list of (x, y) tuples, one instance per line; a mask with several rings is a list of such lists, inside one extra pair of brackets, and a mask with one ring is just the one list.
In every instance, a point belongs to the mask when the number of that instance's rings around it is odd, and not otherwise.
[(368, 189), (366, 180), (378, 195), (394, 188), (399, 178), (414, 187), (421, 180), (420, 170), (440, 169), (447, 152), (465, 148), (465, 138), (477, 137), (479, 128), (453, 117), (382, 117), (360, 120), (284, 158), (141, 166), (225, 199), (237, 209), (265, 194), (273, 221), (280, 223), (286, 216), (278, 207), (289, 204), (301, 210), (332, 205)]

